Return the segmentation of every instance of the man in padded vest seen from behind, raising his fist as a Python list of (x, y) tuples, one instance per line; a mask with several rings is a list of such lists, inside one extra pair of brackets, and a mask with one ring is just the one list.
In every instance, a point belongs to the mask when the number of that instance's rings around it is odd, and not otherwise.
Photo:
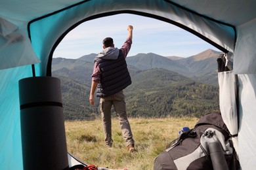
[(105, 142), (112, 147), (111, 108), (116, 111), (129, 152), (135, 151), (135, 141), (126, 114), (126, 103), (123, 89), (131, 84), (131, 76), (127, 69), (125, 58), (131, 48), (133, 39), (133, 26), (127, 27), (128, 37), (123, 46), (114, 47), (113, 39), (106, 37), (103, 40), (103, 50), (95, 58), (93, 68), (90, 103), (95, 104), (94, 95), (100, 97), (100, 113), (104, 128)]

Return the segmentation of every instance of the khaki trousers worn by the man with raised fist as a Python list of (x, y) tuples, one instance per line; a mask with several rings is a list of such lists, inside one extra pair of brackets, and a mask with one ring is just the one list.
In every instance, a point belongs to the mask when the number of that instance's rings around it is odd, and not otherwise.
[(123, 95), (123, 90), (120, 92), (110, 95), (108, 97), (100, 97), (100, 113), (102, 117), (102, 124), (105, 135), (105, 142), (109, 146), (112, 146), (112, 124), (111, 124), (111, 108), (112, 105), (116, 111), (117, 118), (119, 119), (119, 124), (121, 131), (123, 133), (123, 139), (126, 145), (135, 144), (133, 140), (133, 134), (131, 133), (131, 126), (129, 124), (127, 114), (126, 114), (126, 103), (125, 96)]

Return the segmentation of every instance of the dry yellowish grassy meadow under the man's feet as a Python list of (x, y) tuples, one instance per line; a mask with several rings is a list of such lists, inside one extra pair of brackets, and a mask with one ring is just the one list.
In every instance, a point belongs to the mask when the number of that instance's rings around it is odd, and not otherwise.
[(194, 127), (198, 118), (129, 118), (129, 122), (138, 150), (134, 154), (127, 151), (117, 118), (112, 118), (112, 148), (104, 143), (100, 119), (66, 121), (68, 152), (88, 165), (110, 169), (153, 169), (154, 159), (178, 137), (178, 131), (184, 126)]

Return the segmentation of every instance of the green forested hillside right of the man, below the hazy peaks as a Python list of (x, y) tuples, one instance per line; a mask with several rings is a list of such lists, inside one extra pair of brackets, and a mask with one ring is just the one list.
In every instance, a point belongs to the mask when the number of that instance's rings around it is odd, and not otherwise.
[(166, 117), (219, 110), (219, 90), (166, 69), (149, 69), (133, 76), (125, 90), (131, 116)]

